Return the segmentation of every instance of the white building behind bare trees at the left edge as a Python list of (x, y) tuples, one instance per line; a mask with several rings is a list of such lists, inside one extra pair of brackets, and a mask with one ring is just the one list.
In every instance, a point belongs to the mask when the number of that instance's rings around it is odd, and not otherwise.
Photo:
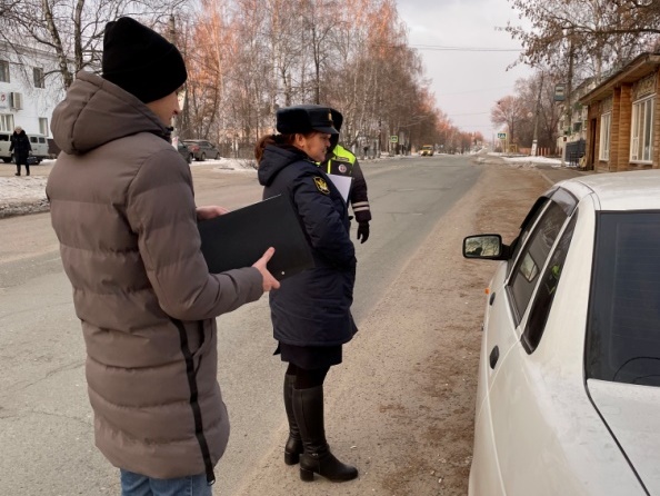
[(50, 119), (64, 98), (62, 78), (52, 53), (0, 43), (0, 131), (20, 126), (27, 133), (50, 138)]

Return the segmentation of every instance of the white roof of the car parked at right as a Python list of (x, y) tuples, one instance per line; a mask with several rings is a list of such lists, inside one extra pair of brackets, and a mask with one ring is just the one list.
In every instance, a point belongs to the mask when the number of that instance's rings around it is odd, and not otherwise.
[(660, 209), (660, 170), (634, 170), (580, 176), (557, 185), (578, 200), (593, 195), (598, 210)]

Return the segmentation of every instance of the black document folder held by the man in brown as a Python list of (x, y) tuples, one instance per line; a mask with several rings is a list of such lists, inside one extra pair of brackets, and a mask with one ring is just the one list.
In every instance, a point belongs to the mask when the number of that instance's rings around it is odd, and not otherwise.
[(198, 228), (211, 274), (250, 267), (271, 246), (276, 252), (268, 270), (278, 280), (314, 265), (293, 207), (281, 195), (200, 220)]

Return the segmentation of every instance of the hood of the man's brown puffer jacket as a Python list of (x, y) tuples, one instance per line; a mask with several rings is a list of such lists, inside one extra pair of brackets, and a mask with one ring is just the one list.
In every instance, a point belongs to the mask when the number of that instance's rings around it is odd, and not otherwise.
[(91, 72), (80, 71), (52, 112), (53, 139), (69, 155), (87, 153), (137, 132), (170, 139), (169, 129), (142, 101)]

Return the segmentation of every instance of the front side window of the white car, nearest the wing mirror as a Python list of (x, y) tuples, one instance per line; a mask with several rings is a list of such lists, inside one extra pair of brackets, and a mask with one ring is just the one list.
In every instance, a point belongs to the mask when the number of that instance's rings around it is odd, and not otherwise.
[(554, 240), (567, 217), (558, 204), (550, 201), (529, 236), (529, 241), (521, 245), (520, 256), (516, 261), (509, 281), (509, 294), (518, 323), (520, 323), (524, 314), (534, 287), (539, 281), (539, 274), (546, 265), (550, 249), (554, 245)]

